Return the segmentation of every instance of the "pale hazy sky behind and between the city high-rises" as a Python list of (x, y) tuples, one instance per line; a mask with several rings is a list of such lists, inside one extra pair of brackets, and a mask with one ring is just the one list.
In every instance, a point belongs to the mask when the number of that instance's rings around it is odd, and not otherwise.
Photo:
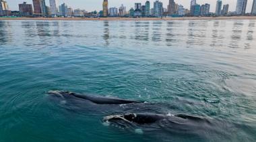
[[(11, 10), (18, 10), (18, 4), (23, 1), (27, 1), (28, 3), (32, 3), (32, 0), (6, 0)], [(49, 5), (49, 0), (45, 0), (46, 5)], [(59, 3), (67, 3), (69, 7), (73, 9), (80, 8), (86, 9), (86, 11), (94, 11), (102, 9), (102, 1), (103, 0), (59, 0)], [(150, 6), (153, 7), (153, 3), (155, 0), (150, 0)], [(160, 0), (164, 3), (164, 7), (167, 7), (168, 0)], [(183, 5), (185, 8), (189, 9), (190, 0), (174, 0), (176, 3)], [(229, 11), (235, 11), (236, 9), (236, 1), (237, 0), (222, 0), (222, 4), (228, 3), (230, 5)], [(134, 3), (145, 3), (146, 0), (108, 0), (109, 7), (120, 7), (121, 4), (124, 4), (127, 7), (127, 10), (130, 7), (134, 7)], [(216, 7), (216, 0), (197, 0), (198, 4), (210, 3), (211, 8), (210, 11), (214, 12)], [(247, 12), (251, 12), (251, 7), (253, 5), (253, 0), (248, 0), (247, 3)]]

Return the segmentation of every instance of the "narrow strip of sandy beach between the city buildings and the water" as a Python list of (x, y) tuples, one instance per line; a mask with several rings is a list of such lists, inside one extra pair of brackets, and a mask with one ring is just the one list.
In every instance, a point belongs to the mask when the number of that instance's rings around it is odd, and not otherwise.
[(232, 17), (0, 17), (1, 20), (42, 20), (42, 21), (173, 21), (173, 20), (215, 20), (215, 19), (256, 19), (256, 16), (232, 16)]

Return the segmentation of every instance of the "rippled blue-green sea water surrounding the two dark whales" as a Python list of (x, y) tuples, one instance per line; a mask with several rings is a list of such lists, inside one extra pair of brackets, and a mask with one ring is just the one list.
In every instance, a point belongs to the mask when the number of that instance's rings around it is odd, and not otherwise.
[[(256, 21), (0, 21), (0, 90), (1, 142), (256, 141)], [(106, 126), (107, 111), (67, 109), (49, 90), (212, 123)]]

